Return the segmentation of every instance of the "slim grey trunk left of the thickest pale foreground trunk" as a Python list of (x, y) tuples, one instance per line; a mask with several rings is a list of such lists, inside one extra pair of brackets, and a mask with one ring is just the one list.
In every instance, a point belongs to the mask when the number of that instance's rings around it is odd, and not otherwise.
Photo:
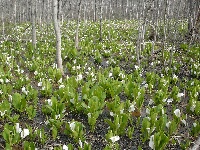
[(32, 5), (31, 5), (31, 12), (32, 12), (32, 46), (33, 49), (36, 49), (36, 28), (35, 28), (35, 15), (36, 15), (36, 0), (32, 0)]

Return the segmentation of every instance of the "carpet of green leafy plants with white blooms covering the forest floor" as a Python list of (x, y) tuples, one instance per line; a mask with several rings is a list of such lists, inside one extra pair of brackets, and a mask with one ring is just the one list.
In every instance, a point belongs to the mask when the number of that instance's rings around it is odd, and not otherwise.
[[(65, 76), (55, 64), (53, 27), (37, 29), (33, 51), (28, 24), (0, 45), (0, 129), (4, 149), (188, 149), (200, 134), (200, 45), (179, 44), (170, 64), (151, 42), (137, 66), (135, 21), (106, 21), (103, 41), (97, 23), (62, 26)], [(181, 24), (180, 24), (181, 26)], [(26, 29), (27, 28), (27, 29)], [(179, 29), (182, 34), (183, 29)], [(168, 43), (167, 45), (170, 45)]]

